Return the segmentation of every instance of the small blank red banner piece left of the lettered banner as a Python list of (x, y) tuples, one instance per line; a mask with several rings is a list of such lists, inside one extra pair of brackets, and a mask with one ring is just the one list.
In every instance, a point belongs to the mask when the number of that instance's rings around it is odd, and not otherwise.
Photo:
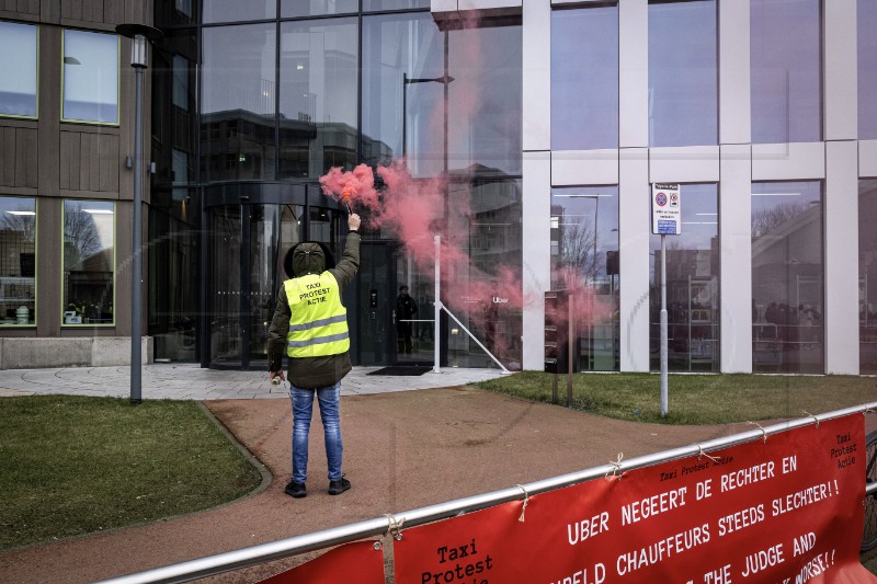
[[(355, 579), (351, 577), (355, 574)], [(384, 584), (384, 552), (374, 541), (355, 541), (331, 549), (307, 563), (260, 581), (260, 584)]]

